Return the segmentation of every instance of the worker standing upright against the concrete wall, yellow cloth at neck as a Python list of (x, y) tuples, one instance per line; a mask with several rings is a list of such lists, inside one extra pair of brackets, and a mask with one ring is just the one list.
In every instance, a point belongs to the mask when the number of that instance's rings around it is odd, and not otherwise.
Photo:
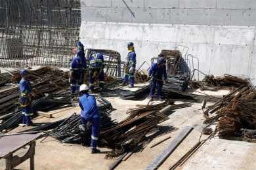
[(127, 55), (127, 62), (125, 67), (125, 77), (123, 78), (123, 85), (130, 79), (130, 88), (134, 88), (135, 84), (135, 68), (136, 68), (136, 53), (133, 42), (128, 42), (127, 48), (129, 50)]

